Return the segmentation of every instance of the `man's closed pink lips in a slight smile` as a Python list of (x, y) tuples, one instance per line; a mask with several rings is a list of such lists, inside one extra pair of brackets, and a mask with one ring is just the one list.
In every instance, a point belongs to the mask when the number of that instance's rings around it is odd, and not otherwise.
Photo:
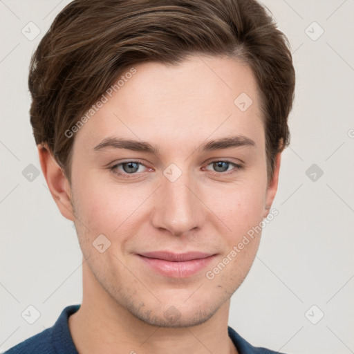
[(164, 277), (186, 278), (201, 272), (216, 254), (207, 252), (145, 252), (138, 257), (154, 272)]

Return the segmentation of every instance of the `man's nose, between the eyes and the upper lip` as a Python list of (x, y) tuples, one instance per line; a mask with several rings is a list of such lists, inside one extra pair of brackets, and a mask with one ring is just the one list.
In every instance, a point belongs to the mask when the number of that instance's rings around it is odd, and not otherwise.
[(205, 220), (205, 207), (196, 181), (183, 173), (173, 182), (162, 176), (160, 188), (154, 195), (152, 224), (174, 236), (201, 228)]

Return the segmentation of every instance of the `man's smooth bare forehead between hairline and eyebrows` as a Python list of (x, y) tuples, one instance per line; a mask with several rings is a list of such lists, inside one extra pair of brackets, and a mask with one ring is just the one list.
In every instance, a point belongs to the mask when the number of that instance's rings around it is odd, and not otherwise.
[(134, 68), (76, 133), (75, 145), (92, 150), (104, 138), (124, 136), (187, 149), (208, 136), (263, 138), (257, 83), (236, 59), (195, 55), (178, 65)]

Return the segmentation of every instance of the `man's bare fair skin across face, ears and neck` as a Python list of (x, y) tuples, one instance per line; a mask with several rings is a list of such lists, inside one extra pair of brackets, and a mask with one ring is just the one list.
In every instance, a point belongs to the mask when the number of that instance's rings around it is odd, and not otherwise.
[[(202, 61), (203, 59), (203, 61)], [(62, 215), (75, 223), (84, 255), (83, 299), (69, 317), (77, 350), (86, 353), (237, 353), (227, 335), (230, 297), (256, 255), (260, 234), (214, 279), (205, 273), (268, 215), (277, 192), (280, 154), (267, 180), (265, 136), (251, 69), (225, 57), (191, 56), (181, 64), (145, 63), (75, 133), (72, 184), (46, 145), (41, 168)], [(252, 98), (242, 112), (234, 100)], [(216, 151), (198, 147), (241, 135), (255, 146)], [(107, 137), (144, 140), (158, 154), (129, 149), (94, 151)], [(140, 160), (135, 174), (120, 162)], [(225, 175), (212, 162), (230, 160)], [(163, 171), (174, 163), (181, 176)], [(127, 165), (125, 165), (127, 167)], [(111, 246), (93, 247), (104, 234)], [(203, 251), (216, 258), (191, 277), (165, 277), (139, 252)], [(171, 306), (178, 314), (166, 315)]]

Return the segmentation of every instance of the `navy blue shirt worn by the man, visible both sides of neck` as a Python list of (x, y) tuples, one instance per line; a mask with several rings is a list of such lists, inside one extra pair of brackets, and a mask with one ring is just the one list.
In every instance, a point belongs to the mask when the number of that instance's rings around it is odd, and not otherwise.
[[(54, 326), (13, 346), (4, 354), (79, 354), (68, 326), (68, 317), (79, 308), (80, 305), (67, 306), (62, 310)], [(230, 326), (227, 327), (227, 330), (239, 354), (279, 354), (279, 352), (269, 351), (265, 348), (255, 348)]]

